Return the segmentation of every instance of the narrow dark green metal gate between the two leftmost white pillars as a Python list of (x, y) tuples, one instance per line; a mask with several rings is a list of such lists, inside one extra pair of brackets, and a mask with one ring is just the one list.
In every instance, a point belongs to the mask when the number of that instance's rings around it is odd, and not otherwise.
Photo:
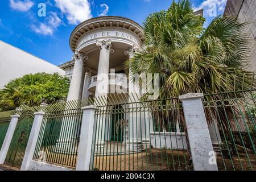
[(6, 164), (14, 167), (20, 167), (22, 165), (33, 121), (34, 114), (31, 110), (26, 111), (26, 113), (20, 116), (7, 152)]

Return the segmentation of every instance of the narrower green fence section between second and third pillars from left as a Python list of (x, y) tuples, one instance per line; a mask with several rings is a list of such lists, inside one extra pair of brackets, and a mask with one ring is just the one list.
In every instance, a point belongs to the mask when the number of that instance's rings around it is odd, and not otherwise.
[(34, 160), (76, 167), (82, 110), (79, 102), (52, 104), (44, 111)]

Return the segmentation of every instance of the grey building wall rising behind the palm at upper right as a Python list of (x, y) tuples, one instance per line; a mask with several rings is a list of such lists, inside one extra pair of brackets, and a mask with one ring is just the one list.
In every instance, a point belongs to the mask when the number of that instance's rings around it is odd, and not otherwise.
[(249, 71), (256, 71), (256, 1), (255, 0), (228, 0), (224, 15), (236, 16), (242, 22), (249, 22), (245, 27), (245, 32), (250, 36), (251, 46)]

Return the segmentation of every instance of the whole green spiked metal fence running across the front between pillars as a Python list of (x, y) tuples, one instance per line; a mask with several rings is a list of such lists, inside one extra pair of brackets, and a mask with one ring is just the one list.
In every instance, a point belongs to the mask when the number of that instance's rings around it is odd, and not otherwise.
[[(254, 92), (204, 96), (205, 115), (219, 170), (256, 168)], [(104, 99), (97, 98), (45, 107), (22, 106), (7, 115), (0, 113), (0, 146), (10, 115), (43, 110), (45, 114), (33, 159), (75, 168), (81, 107), (94, 104), (97, 110), (91, 170), (193, 170), (183, 106), (177, 98), (133, 102), (120, 96), (119, 104), (114, 98), (106, 98), (107, 105), (102, 105)]]

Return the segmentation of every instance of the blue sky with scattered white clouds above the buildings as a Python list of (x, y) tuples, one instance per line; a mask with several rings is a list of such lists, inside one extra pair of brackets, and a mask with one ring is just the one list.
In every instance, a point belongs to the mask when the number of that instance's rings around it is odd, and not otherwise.
[[(191, 0), (204, 9), (205, 26), (222, 14), (226, 0)], [(69, 36), (80, 22), (103, 15), (124, 16), (141, 24), (148, 14), (166, 10), (172, 0), (1, 0), (0, 40), (52, 64), (71, 60)], [(46, 16), (39, 16), (45, 3)], [(1, 52), (0, 52), (1, 53)]]

